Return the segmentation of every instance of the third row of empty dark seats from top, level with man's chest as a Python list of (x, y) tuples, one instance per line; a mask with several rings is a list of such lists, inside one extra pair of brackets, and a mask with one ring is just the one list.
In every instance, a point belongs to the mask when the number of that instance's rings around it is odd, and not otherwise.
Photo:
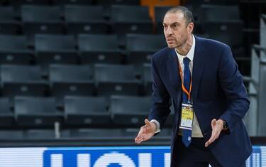
[(59, 102), (65, 95), (150, 94), (150, 65), (142, 70), (140, 80), (133, 65), (50, 65), (44, 80), (39, 66), (1, 65), (1, 94), (54, 95)]

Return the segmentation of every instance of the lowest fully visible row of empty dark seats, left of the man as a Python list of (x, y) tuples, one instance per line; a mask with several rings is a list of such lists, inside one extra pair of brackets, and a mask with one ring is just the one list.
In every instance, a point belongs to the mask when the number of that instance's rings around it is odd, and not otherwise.
[[(150, 97), (118, 96), (84, 97), (67, 96), (64, 110), (57, 109), (53, 97), (15, 97), (12, 104), (8, 98), (0, 98), (0, 126), (62, 126), (132, 127), (141, 125), (148, 118)], [(172, 124), (173, 114), (165, 124)]]

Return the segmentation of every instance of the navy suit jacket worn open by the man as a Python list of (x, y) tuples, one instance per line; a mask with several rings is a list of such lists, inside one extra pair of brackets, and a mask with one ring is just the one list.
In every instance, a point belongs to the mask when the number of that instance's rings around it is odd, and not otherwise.
[[(211, 136), (211, 120), (224, 119), (229, 133), (221, 133), (209, 147), (223, 166), (239, 166), (252, 153), (250, 139), (242, 122), (250, 102), (231, 48), (218, 41), (196, 37), (192, 72), (192, 100), (194, 112), (204, 138)], [(182, 104), (179, 63), (173, 48), (163, 48), (153, 55), (153, 104), (149, 119), (160, 126), (174, 105), (171, 139), (171, 167), (179, 154), (176, 136)], [(172, 99), (172, 100), (171, 100)]]

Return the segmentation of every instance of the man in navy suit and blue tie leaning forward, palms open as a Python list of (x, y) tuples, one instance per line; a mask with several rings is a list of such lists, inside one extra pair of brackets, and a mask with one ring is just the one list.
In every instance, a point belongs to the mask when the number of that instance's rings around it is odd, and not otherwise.
[(171, 167), (245, 166), (252, 153), (242, 122), (249, 101), (231, 48), (194, 36), (185, 7), (167, 11), (162, 24), (168, 47), (153, 55), (153, 105), (135, 142), (160, 132), (172, 99)]

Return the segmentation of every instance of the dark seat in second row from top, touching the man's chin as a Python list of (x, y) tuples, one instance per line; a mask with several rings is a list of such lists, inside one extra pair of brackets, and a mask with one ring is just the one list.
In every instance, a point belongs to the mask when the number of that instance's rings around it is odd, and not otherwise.
[(127, 34), (128, 62), (135, 65), (150, 63), (151, 55), (166, 47), (165, 36), (152, 34)]

